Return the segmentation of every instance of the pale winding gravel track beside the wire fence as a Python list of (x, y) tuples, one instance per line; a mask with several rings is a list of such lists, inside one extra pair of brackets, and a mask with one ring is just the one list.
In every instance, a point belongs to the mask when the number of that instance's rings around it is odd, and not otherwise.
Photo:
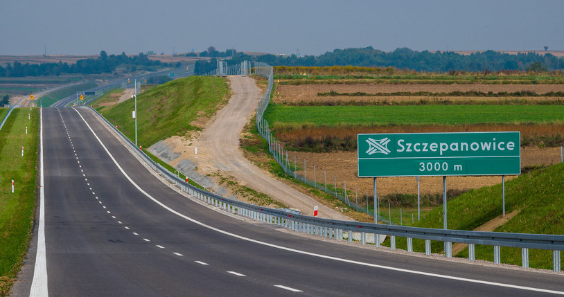
[[(272, 174), (256, 167), (243, 156), (239, 148), (240, 134), (256, 110), (261, 90), (252, 78), (229, 76), (229, 82), (233, 96), (213, 117), (212, 123), (206, 126), (200, 138), (191, 143), (181, 137), (164, 141), (174, 147), (175, 152), (182, 154), (170, 164), (174, 166), (183, 158), (191, 159), (197, 163), (197, 171), (200, 173), (210, 174), (219, 170), (222, 175), (230, 175), (238, 183), (297, 208), (304, 215), (313, 215), (314, 206), (318, 206), (319, 217), (350, 220), (340, 211), (324, 206), (312, 197), (274, 179)], [(197, 155), (194, 155), (194, 147), (197, 147)]]

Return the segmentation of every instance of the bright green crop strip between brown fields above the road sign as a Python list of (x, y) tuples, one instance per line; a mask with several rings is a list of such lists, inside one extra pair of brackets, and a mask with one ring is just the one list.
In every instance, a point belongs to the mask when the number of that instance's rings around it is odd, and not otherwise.
[(564, 106), (422, 105), (313, 106), (270, 104), (265, 118), (272, 127), (372, 125), (459, 125), (484, 123), (561, 123)]

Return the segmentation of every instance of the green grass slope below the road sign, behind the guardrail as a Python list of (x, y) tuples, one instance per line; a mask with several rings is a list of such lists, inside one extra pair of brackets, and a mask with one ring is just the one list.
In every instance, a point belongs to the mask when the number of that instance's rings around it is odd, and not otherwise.
[[(448, 179), (447, 179), (448, 186)], [(496, 232), (564, 234), (564, 164), (532, 170), (505, 183), (506, 213), (520, 213), (495, 229)], [(448, 201), (448, 228), (473, 230), (502, 214), (502, 185), (469, 190)], [(386, 209), (382, 209), (386, 210)], [(443, 228), (443, 208), (431, 210), (414, 226)], [(413, 240), (414, 251), (424, 252), (423, 240)], [(398, 249), (407, 249), (407, 240), (396, 238)], [(442, 242), (432, 242), (433, 253), (443, 251)], [(493, 261), (493, 246), (476, 246), (476, 259)], [(457, 256), (468, 257), (468, 249)], [(563, 259), (564, 259), (564, 255)], [(502, 247), (502, 262), (521, 264), (520, 249)], [(552, 252), (531, 250), (530, 267), (551, 269)]]

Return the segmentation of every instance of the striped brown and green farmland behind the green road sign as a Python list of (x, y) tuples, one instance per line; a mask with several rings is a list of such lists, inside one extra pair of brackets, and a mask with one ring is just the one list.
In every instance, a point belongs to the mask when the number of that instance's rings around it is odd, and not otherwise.
[[(357, 177), (357, 134), (519, 131), (524, 172), (561, 161), (561, 73), (451, 75), (329, 68), (275, 69), (275, 87), (265, 118), (276, 139), (290, 150), (288, 159), (298, 174), (331, 188), (336, 182), (342, 189), (346, 182), (353, 200), (358, 191), (360, 206), (366, 204), (373, 185), (371, 179)], [(506, 177), (506, 181), (513, 178)], [(461, 193), (500, 181), (501, 177), (490, 176), (449, 177), (447, 188)], [(425, 201), (441, 192), (441, 177), (421, 178)], [(387, 217), (390, 202), (392, 219), (398, 219), (398, 208), (403, 207), (403, 222), (411, 223), (417, 193), (414, 177), (379, 179), (378, 193), (386, 212), (382, 215)]]

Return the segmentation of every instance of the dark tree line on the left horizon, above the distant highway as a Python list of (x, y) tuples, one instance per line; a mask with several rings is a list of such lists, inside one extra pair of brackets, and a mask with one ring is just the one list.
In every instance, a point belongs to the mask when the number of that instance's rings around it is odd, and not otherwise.
[[(6, 67), (0, 66), (0, 77), (19, 78), (24, 76), (60, 75), (62, 73), (112, 73), (120, 65), (128, 65), (132, 71), (135, 71), (137, 66), (173, 66), (158, 60), (149, 60), (147, 55), (143, 53), (129, 57), (125, 53), (121, 53), (121, 55), (107, 55), (105, 51), (101, 51), (100, 57), (97, 59), (82, 59), (71, 65), (60, 61), (58, 63), (41, 64), (21, 64), (15, 61), (13, 64), (8, 63)], [(180, 66), (179, 63), (176, 66)]]

